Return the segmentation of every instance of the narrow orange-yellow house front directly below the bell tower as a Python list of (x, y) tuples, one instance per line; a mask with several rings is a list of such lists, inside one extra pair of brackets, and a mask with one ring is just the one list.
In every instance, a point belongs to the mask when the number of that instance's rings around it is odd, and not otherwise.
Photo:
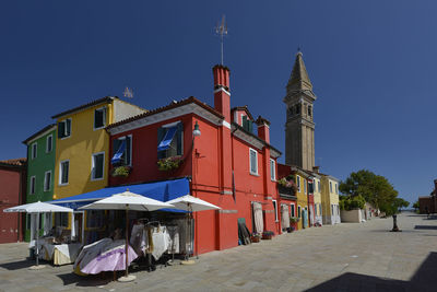
[(297, 229), (308, 227), (308, 174), (300, 170), (299, 167), (292, 166), (292, 174), (295, 176), (295, 183), (297, 186), (296, 191), (296, 209), (297, 218), (299, 219), (297, 223)]

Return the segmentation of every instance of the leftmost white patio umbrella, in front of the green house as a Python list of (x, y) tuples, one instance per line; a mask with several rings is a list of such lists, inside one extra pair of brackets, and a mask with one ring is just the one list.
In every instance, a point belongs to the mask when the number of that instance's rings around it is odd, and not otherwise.
[(39, 266), (38, 257), (39, 257), (39, 248), (38, 248), (38, 230), (39, 230), (39, 213), (54, 213), (54, 212), (73, 212), (73, 209), (60, 207), (52, 203), (47, 202), (31, 202), (26, 205), (20, 205), (15, 207), (11, 207), (4, 209), (3, 212), (21, 212), (21, 213), (31, 213), (36, 214), (36, 266), (31, 267), (31, 269), (39, 269), (44, 268), (44, 266)]

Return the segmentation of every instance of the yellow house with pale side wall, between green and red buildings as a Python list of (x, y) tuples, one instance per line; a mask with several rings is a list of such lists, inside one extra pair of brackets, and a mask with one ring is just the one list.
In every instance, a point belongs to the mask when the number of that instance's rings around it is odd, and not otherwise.
[(52, 116), (58, 126), (54, 199), (106, 187), (111, 157), (105, 127), (144, 112), (106, 96)]

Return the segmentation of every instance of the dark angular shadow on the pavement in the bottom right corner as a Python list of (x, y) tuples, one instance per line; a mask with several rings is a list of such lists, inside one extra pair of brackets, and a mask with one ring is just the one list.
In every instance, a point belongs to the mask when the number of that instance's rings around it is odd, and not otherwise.
[(437, 253), (430, 253), (410, 281), (346, 272), (306, 291), (436, 291)]

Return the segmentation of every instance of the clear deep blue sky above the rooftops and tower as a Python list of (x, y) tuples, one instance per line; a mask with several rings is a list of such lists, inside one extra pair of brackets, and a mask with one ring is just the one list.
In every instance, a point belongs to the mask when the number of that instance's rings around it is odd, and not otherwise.
[[(271, 121), (284, 152), (285, 85), (297, 47), (318, 96), (316, 162), (344, 179), (370, 170), (400, 196), (436, 178), (435, 1), (1, 1), (0, 160), (64, 109), (134, 91), (152, 109), (213, 105), (214, 26), (226, 14), (232, 106)], [(284, 161), (284, 156), (282, 157)]]

